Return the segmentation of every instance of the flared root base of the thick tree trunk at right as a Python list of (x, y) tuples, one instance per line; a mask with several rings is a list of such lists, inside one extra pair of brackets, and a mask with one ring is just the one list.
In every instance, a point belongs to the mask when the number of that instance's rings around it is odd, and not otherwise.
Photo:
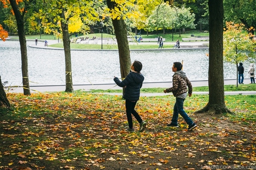
[(209, 115), (215, 115), (215, 114), (223, 114), (223, 113), (230, 113), (235, 115), (232, 111), (230, 111), (228, 108), (226, 108), (225, 105), (206, 105), (204, 108), (202, 108), (199, 111), (195, 111), (194, 113), (204, 113)]

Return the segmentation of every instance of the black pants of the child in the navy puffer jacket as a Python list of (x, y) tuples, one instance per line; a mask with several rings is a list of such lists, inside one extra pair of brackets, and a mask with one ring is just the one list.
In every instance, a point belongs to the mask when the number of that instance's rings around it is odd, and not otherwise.
[(142, 122), (140, 115), (134, 110), (136, 103), (137, 101), (131, 102), (130, 100), (125, 100), (126, 116), (130, 128), (133, 127), (131, 114), (137, 119), (139, 123)]

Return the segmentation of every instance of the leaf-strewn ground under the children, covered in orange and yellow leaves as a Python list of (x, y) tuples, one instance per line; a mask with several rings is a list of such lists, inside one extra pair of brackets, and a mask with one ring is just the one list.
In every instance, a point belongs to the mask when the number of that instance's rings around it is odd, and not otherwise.
[(141, 97), (136, 110), (146, 129), (139, 133), (133, 117), (130, 133), (121, 96), (73, 95), (8, 94), (13, 110), (0, 110), (0, 170), (256, 169), (256, 125), (246, 119), (255, 118), (255, 96), (253, 105), (235, 103), (237, 119), (194, 115), (207, 96), (187, 98), (184, 109), (198, 125), (191, 132), (181, 116), (178, 128), (166, 126), (173, 96)]

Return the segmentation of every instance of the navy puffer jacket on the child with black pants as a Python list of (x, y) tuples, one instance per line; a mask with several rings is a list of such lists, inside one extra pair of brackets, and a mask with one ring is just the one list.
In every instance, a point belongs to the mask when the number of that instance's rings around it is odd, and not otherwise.
[(142, 74), (130, 71), (130, 73), (125, 77), (122, 82), (117, 77), (114, 78), (114, 81), (119, 87), (126, 86), (125, 94), (123, 96), (124, 99), (128, 99), (130, 101), (139, 100), (140, 88), (142, 87), (142, 83), (144, 81), (144, 77)]

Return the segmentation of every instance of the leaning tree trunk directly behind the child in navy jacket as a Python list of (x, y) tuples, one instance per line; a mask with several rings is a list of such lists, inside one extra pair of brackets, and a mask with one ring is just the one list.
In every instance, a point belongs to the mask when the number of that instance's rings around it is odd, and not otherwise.
[[(110, 8), (111, 10), (114, 8), (114, 4), (115, 2), (107, 0), (108, 8)], [(129, 74), (131, 69), (130, 49), (127, 39), (127, 26), (125, 24), (125, 21), (122, 19), (112, 19), (112, 23), (118, 45), (121, 78), (123, 79)]]

